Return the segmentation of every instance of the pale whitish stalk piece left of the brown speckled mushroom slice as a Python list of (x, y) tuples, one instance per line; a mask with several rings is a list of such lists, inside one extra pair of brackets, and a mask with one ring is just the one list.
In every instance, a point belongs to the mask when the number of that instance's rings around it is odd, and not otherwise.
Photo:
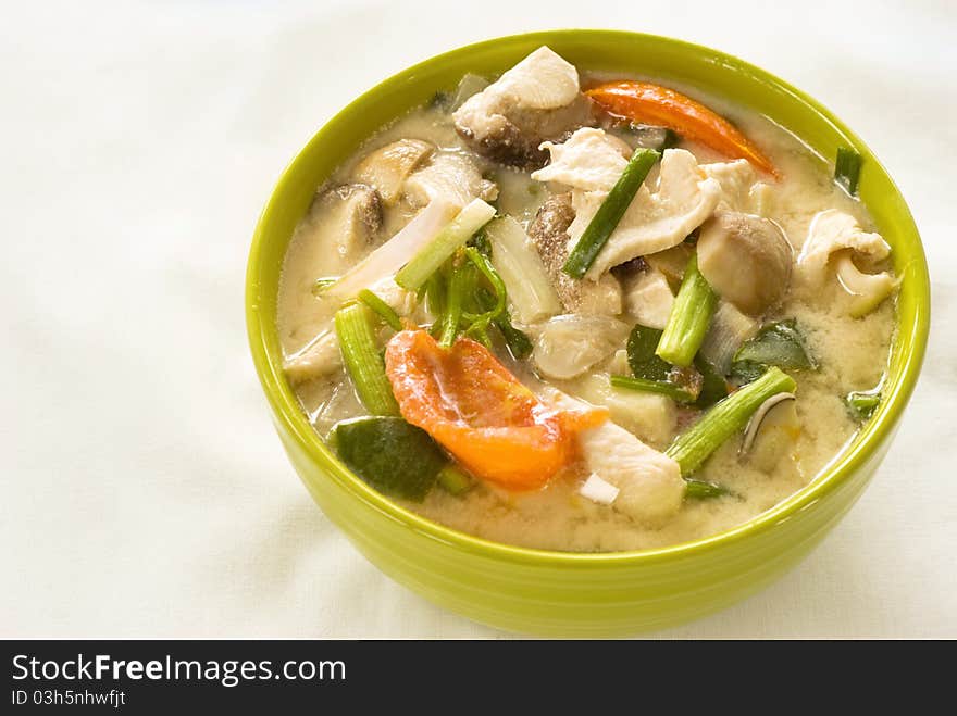
[(502, 216), (486, 225), (485, 234), (492, 241), (492, 264), (505, 281), (519, 321), (534, 323), (561, 313), (561, 301), (525, 229), (511, 216)]

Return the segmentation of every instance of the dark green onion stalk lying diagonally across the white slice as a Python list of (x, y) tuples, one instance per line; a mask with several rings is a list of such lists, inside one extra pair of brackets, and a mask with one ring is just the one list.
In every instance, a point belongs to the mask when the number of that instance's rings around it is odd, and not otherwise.
[(595, 216), (582, 233), (582, 237), (569, 254), (568, 261), (564, 262), (561, 269), (566, 274), (572, 278), (582, 278), (588, 273), (659, 156), (661, 154), (654, 149), (639, 147), (635, 150), (627, 166), (624, 167), (624, 172), (611, 187), (611, 191), (608, 192), (605, 201), (595, 212)]

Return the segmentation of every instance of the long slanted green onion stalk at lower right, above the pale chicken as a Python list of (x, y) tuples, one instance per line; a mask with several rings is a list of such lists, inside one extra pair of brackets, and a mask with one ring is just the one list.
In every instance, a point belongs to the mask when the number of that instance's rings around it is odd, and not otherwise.
[(794, 379), (778, 367), (717, 403), (688, 430), (678, 436), (666, 453), (681, 466), (682, 475), (691, 475), (732, 435), (747, 425), (761, 403), (778, 393), (793, 393)]

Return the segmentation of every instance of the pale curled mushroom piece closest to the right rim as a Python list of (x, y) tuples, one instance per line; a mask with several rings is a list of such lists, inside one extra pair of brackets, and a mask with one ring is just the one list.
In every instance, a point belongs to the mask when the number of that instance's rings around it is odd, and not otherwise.
[(819, 287), (833, 263), (841, 286), (853, 297), (850, 315), (859, 317), (891, 296), (897, 282), (888, 272), (861, 272), (855, 259), (874, 264), (890, 254), (891, 247), (880, 234), (865, 231), (850, 214), (830, 209), (811, 221), (797, 267), (808, 285)]

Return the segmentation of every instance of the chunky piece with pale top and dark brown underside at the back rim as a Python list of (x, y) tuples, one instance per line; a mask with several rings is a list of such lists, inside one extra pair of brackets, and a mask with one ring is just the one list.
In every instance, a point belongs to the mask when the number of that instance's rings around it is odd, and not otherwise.
[(540, 166), (539, 145), (594, 122), (574, 65), (542, 47), (452, 114), (456, 130), (480, 154), (514, 166)]

